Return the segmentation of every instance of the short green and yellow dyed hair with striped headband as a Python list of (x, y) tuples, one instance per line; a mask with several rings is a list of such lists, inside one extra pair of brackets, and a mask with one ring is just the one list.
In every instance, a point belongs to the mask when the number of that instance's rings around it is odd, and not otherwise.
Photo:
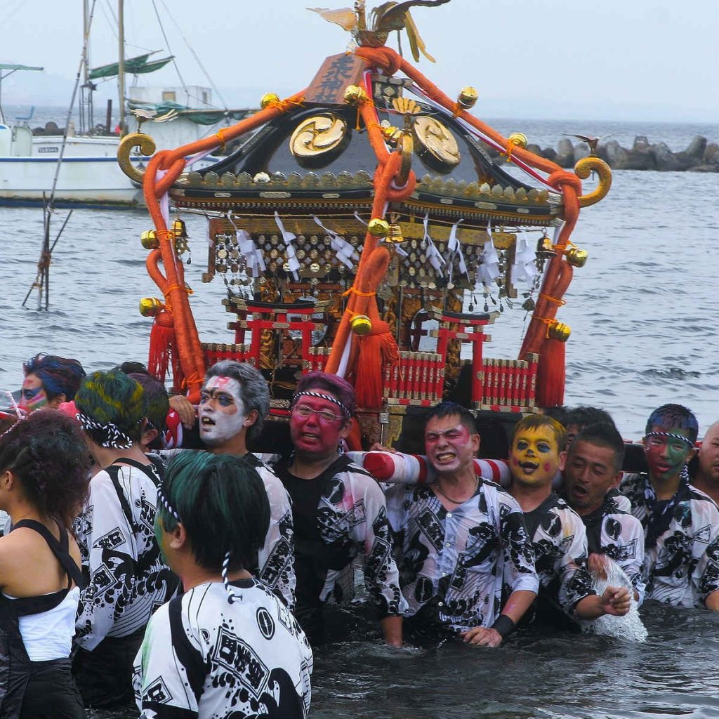
[[(80, 385), (75, 406), (83, 429), (95, 444), (127, 447), (139, 441), (142, 420), (147, 416), (145, 390), (123, 372), (93, 372)], [(119, 442), (118, 432), (122, 435)]]

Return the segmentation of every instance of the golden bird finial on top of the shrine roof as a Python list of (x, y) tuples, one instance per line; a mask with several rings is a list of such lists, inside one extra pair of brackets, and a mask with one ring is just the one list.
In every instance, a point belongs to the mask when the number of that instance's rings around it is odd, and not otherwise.
[(419, 35), (417, 26), (409, 12), (411, 7), (436, 7), (444, 5), (449, 0), (406, 0), (405, 2), (385, 2), (375, 7), (370, 13), (370, 25), (367, 26), (365, 15), (365, 1), (357, 0), (354, 9), (344, 7), (337, 10), (321, 7), (308, 7), (324, 17), (327, 22), (333, 22), (348, 32), (362, 47), (383, 47), (392, 30), (401, 32), (405, 30), (409, 39), (412, 57), (419, 61), (420, 53), (434, 63), (434, 58), (427, 52), (426, 45)]

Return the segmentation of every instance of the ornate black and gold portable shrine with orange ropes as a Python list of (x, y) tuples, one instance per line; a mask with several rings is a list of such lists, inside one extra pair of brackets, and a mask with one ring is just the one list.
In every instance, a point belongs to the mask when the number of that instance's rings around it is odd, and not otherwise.
[[(197, 400), (206, 367), (250, 362), (282, 422), (302, 373), (342, 375), (356, 392), (357, 450), (378, 441), (421, 452), (423, 414), (443, 398), (500, 430), (562, 404), (570, 329), (557, 313), (587, 260), (570, 238), (580, 211), (608, 193), (610, 169), (592, 153), (562, 170), (521, 132), (503, 137), (472, 114), (474, 88), (449, 96), (385, 45), (406, 29), (418, 60), (426, 48), (409, 8), (445, 1), (385, 4), (370, 17), (362, 1), (316, 10), (354, 46), (306, 88), (267, 93), (256, 114), (157, 152), (142, 175), (130, 158), (147, 135), (123, 139), (119, 164), (142, 183), (154, 224), (142, 245), (160, 296), (140, 311), (152, 318), (157, 377)], [(238, 138), (210, 168), (187, 166)], [(201, 336), (193, 317), (183, 272), (192, 213), (208, 218), (203, 282), (226, 285), (227, 336)], [(518, 356), (488, 356), (488, 332), (520, 302)]]

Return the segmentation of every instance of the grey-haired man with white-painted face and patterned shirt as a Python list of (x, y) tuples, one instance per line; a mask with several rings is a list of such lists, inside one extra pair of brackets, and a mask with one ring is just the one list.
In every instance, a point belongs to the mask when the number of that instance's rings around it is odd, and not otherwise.
[(237, 454), (262, 477), (270, 500), (270, 528), (257, 553), (257, 579), (295, 605), (293, 521), (290, 498), (275, 472), (247, 451), (270, 411), (265, 377), (252, 367), (226, 359), (207, 370), (200, 396), (200, 437), (214, 454)]

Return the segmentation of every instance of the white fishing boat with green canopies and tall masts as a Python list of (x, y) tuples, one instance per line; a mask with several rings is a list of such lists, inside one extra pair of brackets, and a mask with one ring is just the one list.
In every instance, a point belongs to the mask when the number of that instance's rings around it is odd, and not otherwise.
[[(86, 2), (87, 6), (87, 2)], [(122, 173), (116, 162), (120, 137), (127, 134), (127, 110), (137, 119), (138, 129), (149, 122), (155, 130), (154, 146), (160, 149), (175, 147), (203, 137), (208, 130), (241, 119), (247, 111), (216, 109), (212, 105), (211, 90), (201, 86), (141, 88), (132, 86), (125, 91), (125, 75), (153, 73), (165, 67), (173, 56), (152, 59), (155, 53), (146, 52), (134, 58), (124, 58), (122, 2), (119, 3), (119, 47), (121, 60), (99, 68), (91, 68), (87, 38), (92, 12), (86, 7), (85, 45), (78, 71), (78, 81), (70, 101), (65, 128), (53, 124), (52, 130), (35, 133), (29, 127), (30, 116), (6, 123), (0, 104), (0, 205), (38, 205), (50, 201), (55, 207), (132, 207), (142, 204), (142, 188)], [(0, 65), (0, 89), (3, 78), (17, 70), (42, 70), (28, 65)], [(83, 83), (80, 85), (80, 79)], [(119, 86), (120, 119), (118, 127), (111, 126), (112, 109), (109, 102), (104, 124), (96, 124), (93, 114), (93, 93), (96, 83), (117, 78)], [(80, 98), (80, 126), (73, 127), (71, 116), (75, 99)], [(176, 99), (183, 102), (178, 103)], [(162, 124), (160, 124), (162, 123)], [(198, 167), (215, 162), (202, 160)], [(138, 170), (147, 163), (139, 150), (130, 162)]]

